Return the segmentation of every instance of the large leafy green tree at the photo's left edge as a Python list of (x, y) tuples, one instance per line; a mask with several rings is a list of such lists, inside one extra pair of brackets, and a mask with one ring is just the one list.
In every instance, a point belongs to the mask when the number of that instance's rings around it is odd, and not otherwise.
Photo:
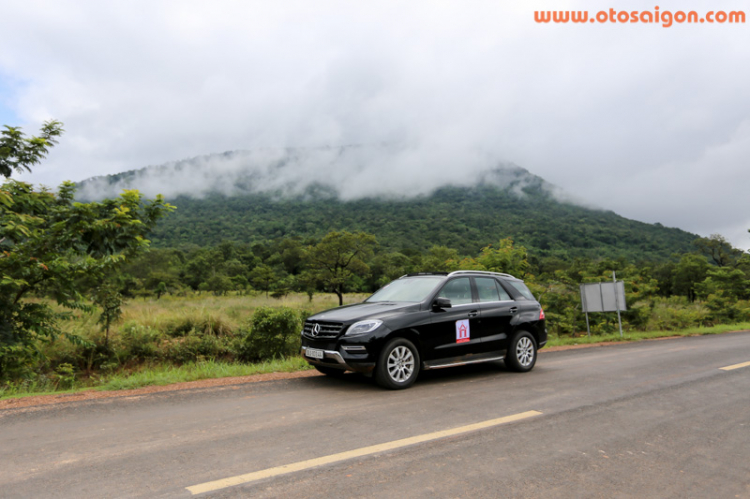
[[(59, 123), (50, 122), (41, 138), (25, 139), (6, 127), (0, 142), (2, 173), (29, 170), (61, 132)], [(103, 279), (145, 251), (146, 235), (174, 208), (161, 196), (146, 202), (138, 191), (98, 203), (77, 203), (74, 194), (70, 182), (57, 193), (14, 180), (0, 186), (0, 379), (40, 355), (37, 341), (51, 341), (60, 333), (61, 314), (44, 301), (26, 298), (47, 295), (63, 307), (87, 308), (84, 278)]]

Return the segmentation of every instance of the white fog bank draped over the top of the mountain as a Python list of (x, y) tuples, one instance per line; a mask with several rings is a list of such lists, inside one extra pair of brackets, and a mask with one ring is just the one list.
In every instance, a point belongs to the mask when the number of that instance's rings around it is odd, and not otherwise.
[(337, 195), (342, 200), (369, 197), (410, 198), (445, 185), (491, 184), (523, 195), (539, 186), (556, 199), (565, 193), (527, 170), (478, 152), (393, 146), (254, 149), (211, 154), (150, 166), (80, 184), (79, 197), (113, 197), (138, 189), (147, 197), (202, 198), (270, 192), (280, 197)]

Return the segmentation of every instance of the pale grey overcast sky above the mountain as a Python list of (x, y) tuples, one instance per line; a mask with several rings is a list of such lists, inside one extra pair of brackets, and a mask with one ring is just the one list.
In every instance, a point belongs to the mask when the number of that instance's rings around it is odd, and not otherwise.
[[(606, 8), (655, 5), (750, 11)], [(65, 123), (20, 177), (47, 185), (228, 150), (398, 144), (410, 179), (496, 158), (749, 248), (750, 26), (534, 22), (603, 6), (0, 0), (0, 124)]]

